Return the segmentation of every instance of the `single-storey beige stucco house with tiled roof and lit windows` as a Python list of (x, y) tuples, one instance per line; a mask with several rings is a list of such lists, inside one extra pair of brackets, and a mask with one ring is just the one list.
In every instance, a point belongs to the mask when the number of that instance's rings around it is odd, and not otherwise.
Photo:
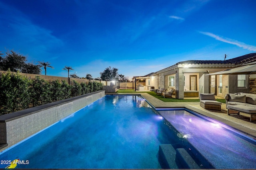
[[(155, 88), (174, 88), (176, 98), (198, 97), (199, 93), (214, 93), (224, 98), (227, 93), (250, 92), (250, 83), (256, 82), (252, 75), (207, 75), (256, 61), (256, 53), (250, 53), (234, 59), (216, 61), (189, 60), (144, 76), (146, 86)], [(250, 82), (250, 78), (252, 79)]]

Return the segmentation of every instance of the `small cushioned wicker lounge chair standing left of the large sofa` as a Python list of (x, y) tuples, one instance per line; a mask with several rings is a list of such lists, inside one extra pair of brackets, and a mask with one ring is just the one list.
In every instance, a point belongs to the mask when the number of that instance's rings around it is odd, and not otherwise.
[(204, 109), (221, 110), (221, 104), (216, 101), (214, 94), (200, 93), (200, 106)]

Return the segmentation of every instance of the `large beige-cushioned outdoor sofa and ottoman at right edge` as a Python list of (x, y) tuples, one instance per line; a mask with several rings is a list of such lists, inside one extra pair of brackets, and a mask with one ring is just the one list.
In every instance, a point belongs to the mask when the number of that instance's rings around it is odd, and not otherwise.
[(250, 114), (250, 121), (256, 121), (256, 94), (230, 93), (226, 94), (225, 99), (228, 115), (243, 112)]

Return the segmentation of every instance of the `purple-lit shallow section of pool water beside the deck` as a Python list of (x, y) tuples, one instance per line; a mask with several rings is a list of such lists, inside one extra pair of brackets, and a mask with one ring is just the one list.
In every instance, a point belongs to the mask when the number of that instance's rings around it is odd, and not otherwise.
[(193, 146), (214, 168), (256, 168), (255, 141), (186, 110), (158, 112), (167, 120), (165, 124), (177, 131), (183, 145)]

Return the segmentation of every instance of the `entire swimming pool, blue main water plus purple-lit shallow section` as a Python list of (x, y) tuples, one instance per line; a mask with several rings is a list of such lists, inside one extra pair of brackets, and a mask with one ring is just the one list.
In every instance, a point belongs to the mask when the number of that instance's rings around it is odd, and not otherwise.
[[(17, 168), (162, 168), (159, 146), (186, 150), (200, 168), (256, 165), (254, 142), (184, 109), (156, 111), (134, 95), (105, 96), (0, 153), (0, 160), (20, 159)], [(184, 168), (176, 156), (168, 155), (170, 168)]]

